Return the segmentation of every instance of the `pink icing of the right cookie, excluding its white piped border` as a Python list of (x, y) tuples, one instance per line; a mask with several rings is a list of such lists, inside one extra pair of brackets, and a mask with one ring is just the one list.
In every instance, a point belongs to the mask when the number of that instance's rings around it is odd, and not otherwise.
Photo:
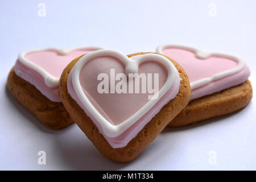
[[(191, 83), (237, 67), (237, 62), (232, 59), (217, 56), (199, 59), (194, 52), (182, 48), (164, 48), (162, 52), (163, 55), (171, 57), (185, 69)], [(211, 81), (200, 88), (192, 89), (191, 100), (241, 84), (249, 76), (250, 69), (246, 65), (240, 72)]]

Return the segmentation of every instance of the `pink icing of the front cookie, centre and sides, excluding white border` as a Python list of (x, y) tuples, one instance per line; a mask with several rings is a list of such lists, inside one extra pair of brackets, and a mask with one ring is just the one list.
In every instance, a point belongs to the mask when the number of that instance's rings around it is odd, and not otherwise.
[[(97, 80), (99, 73), (110, 74), (110, 68), (115, 68), (115, 72), (124, 73), (125, 66), (113, 57), (98, 57), (89, 61), (80, 72), (80, 83), (86, 94), (86, 97), (93, 104), (93, 106), (113, 125), (125, 121), (136, 111), (138, 111), (144, 104), (146, 104), (148, 94), (99, 94), (97, 92), (97, 84), (100, 82)], [(164, 85), (167, 78), (167, 71), (163, 65), (154, 63), (154, 61), (147, 61), (139, 65), (139, 73), (159, 73), (159, 89)], [(79, 104), (79, 106), (85, 111), (85, 113), (92, 119), (97, 128), (100, 130), (105, 139), (108, 140), (110, 146), (113, 148), (124, 147), (133, 139), (139, 131), (154, 117), (155, 114), (159, 113), (160, 109), (167, 104), (172, 98), (179, 92), (180, 77), (179, 73), (175, 72), (175, 80), (171, 88), (160, 100), (151, 107), (146, 114), (144, 114), (137, 122), (126, 129), (118, 137), (108, 137), (100, 123), (93, 117), (92, 114), (86, 109), (81, 103), (77, 96), (75, 89), (72, 84), (72, 71), (68, 76), (68, 92), (71, 97)]]

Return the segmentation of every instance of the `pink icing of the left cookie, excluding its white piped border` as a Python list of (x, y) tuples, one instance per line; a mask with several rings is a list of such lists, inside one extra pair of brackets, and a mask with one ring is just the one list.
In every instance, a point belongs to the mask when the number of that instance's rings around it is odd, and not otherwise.
[[(95, 51), (95, 49), (76, 49), (67, 55), (59, 55), (57, 51), (29, 52), (24, 57), (47, 71), (50, 75), (60, 78), (63, 69), (76, 57)], [(29, 67), (21, 60), (17, 60), (14, 71), (16, 75), (34, 85), (44, 96), (53, 102), (61, 102), (57, 95), (59, 86), (51, 88), (46, 85), (44, 77), (34, 68)]]

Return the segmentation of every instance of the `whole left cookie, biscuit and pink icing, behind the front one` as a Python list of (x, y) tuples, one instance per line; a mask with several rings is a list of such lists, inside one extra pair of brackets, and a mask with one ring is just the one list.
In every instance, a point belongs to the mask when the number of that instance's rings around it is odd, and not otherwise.
[(50, 129), (69, 126), (73, 121), (58, 95), (61, 72), (75, 57), (97, 49), (101, 48), (24, 51), (9, 73), (7, 88), (20, 104)]

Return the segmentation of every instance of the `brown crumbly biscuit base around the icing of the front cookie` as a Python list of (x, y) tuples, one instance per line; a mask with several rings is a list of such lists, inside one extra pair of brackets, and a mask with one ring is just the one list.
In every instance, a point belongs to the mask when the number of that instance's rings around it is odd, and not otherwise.
[[(151, 53), (151, 52), (147, 52)], [(135, 55), (143, 55), (146, 53), (135, 53), (128, 55), (128, 57)], [(188, 80), (188, 76), (184, 69), (180, 67), (174, 60), (169, 59), (179, 71), (180, 88), (177, 96), (166, 104), (150, 122), (134, 137), (125, 147), (112, 148), (102, 134), (99, 133), (96, 125), (85, 114), (81, 107), (75, 100), (69, 95), (67, 89), (67, 78), (71, 69), (76, 62), (81, 58), (73, 60), (63, 71), (60, 77), (60, 97), (63, 101), (65, 108), (73, 121), (77, 123), (80, 129), (90, 139), (94, 146), (104, 155), (106, 158), (115, 162), (129, 162), (134, 159), (146, 146), (154, 140), (158, 134), (167, 126), (167, 124), (188, 104), (191, 88)]]

